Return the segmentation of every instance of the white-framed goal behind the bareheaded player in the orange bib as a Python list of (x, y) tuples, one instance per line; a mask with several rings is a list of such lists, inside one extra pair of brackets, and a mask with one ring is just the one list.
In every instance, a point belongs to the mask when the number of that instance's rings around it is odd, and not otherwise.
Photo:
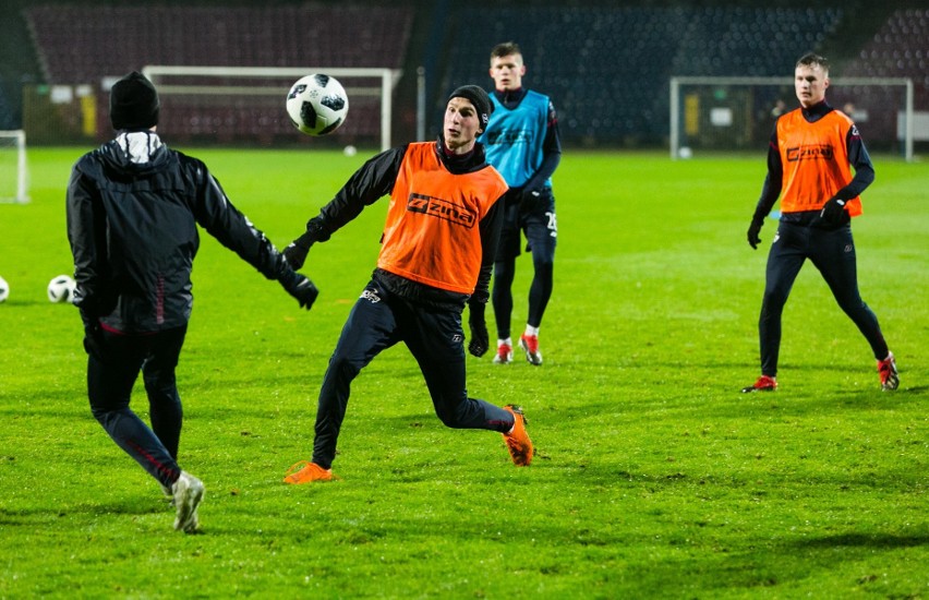
[[(869, 151), (913, 160), (913, 81), (830, 81), (829, 104), (856, 122)], [(767, 152), (779, 115), (798, 106), (784, 77), (672, 77), (671, 156), (701, 151)]]

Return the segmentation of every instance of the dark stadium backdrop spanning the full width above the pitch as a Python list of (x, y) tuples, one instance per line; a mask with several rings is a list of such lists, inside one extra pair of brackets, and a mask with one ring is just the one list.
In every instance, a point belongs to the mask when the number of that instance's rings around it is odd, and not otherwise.
[[(832, 60), (833, 77), (913, 77), (915, 108), (929, 110), (925, 1), (5, 0), (0, 129), (25, 129), (31, 145), (86, 144), (109, 134), (105, 92), (97, 94), (104, 112), (92, 136), (68, 116), (51, 124), (29, 122), (36, 94), (57, 84), (100, 88), (102, 77), (141, 62), (279, 61), (275, 65), (401, 69), (391, 136), (408, 141), (417, 136), (418, 70), (431, 136), (448, 91), (464, 82), (488, 86), (488, 50), (507, 39), (523, 48), (528, 85), (555, 100), (567, 147), (666, 147), (672, 75), (785, 76), (789, 86), (793, 63), (807, 50)], [(355, 122), (342, 133), (376, 127), (376, 117), (365, 112), (353, 112)], [(178, 123), (182, 117), (173, 115)], [(177, 129), (183, 128), (177, 124), (172, 136)], [(225, 133), (215, 141), (254, 141)], [(276, 140), (265, 135), (261, 143)]]

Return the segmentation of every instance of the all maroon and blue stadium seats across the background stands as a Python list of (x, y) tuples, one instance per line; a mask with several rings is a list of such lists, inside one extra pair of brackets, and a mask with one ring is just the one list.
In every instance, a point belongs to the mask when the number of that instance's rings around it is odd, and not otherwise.
[[(432, 129), (443, 100), (462, 83), (490, 87), (490, 49), (520, 44), (527, 84), (548, 93), (558, 110), (563, 141), (574, 145), (657, 146), (668, 135), (668, 80), (673, 75), (784, 76), (797, 56), (819, 50), (847, 14), (838, 1), (808, 8), (733, 4), (540, 2), (499, 5), (437, 3), (434, 20), (420, 20), (431, 84)], [(202, 2), (193, 2), (202, 4)], [(427, 3), (425, 3), (427, 4)], [(25, 10), (48, 83), (98, 83), (145, 64), (240, 67), (387, 67), (408, 63), (414, 4), (37, 5)], [(424, 10), (417, 4), (417, 10)], [(436, 9), (438, 10), (438, 9)], [(485, 15), (475, 24), (474, 13)], [(917, 109), (929, 106), (929, 10), (901, 10), (833, 76), (909, 76)], [(435, 50), (442, 45), (442, 51)], [(789, 85), (789, 84), (788, 84)], [(870, 104), (880, 91), (861, 93)], [(434, 93), (434, 95), (432, 95)], [(378, 128), (376, 101), (352, 104), (340, 135)], [(105, 108), (105, 107), (102, 107)], [(244, 123), (251, 135), (281, 133), (262, 110), (200, 109), (172, 113), (171, 129), (218, 132)], [(409, 112), (409, 110), (407, 110)], [(894, 127), (895, 117), (872, 112), (869, 127)], [(885, 122), (884, 122), (885, 121)], [(197, 133), (197, 134), (200, 134)]]

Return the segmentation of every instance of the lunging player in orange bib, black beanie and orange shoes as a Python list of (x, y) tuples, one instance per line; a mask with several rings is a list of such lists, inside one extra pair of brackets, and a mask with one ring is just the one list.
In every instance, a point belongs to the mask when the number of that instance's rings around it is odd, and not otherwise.
[(333, 479), (351, 382), (399, 341), (417, 360), (445, 425), (499, 432), (514, 464), (532, 460), (522, 410), (469, 397), (464, 381), (461, 314), (467, 304), (468, 350), (483, 356), (490, 345), (484, 309), (500, 235), (499, 200), (507, 191), (476, 143), (492, 110), (487, 94), (475, 85), (453, 92), (436, 142), (407, 144), (371, 158), (285, 250), (288, 263), (300, 268), (315, 242), (328, 240), (365, 206), (390, 196), (377, 266), (323, 379), (312, 460), (291, 467), (287, 483)]

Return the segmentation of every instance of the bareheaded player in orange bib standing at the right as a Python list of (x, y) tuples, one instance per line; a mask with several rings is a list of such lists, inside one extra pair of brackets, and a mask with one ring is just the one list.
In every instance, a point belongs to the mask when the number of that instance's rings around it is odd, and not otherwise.
[[(797, 61), (794, 87), (800, 107), (781, 116), (768, 149), (768, 177), (748, 228), (759, 232), (781, 199), (781, 221), (768, 254), (764, 298), (758, 323), (761, 376), (743, 392), (777, 387), (781, 314), (804, 262), (822, 274), (836, 302), (871, 346), (882, 389), (900, 385), (893, 353), (878, 317), (858, 293), (852, 217), (861, 214), (859, 195), (874, 180), (874, 168), (852, 119), (825, 101), (829, 62), (809, 53)], [(853, 176), (854, 168), (854, 176)]]

